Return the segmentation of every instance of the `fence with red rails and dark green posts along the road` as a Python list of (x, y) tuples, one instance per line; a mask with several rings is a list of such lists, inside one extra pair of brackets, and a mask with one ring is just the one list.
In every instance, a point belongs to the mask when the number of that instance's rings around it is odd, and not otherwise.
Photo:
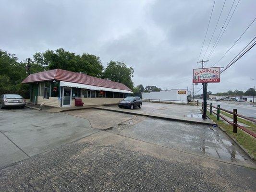
[[(203, 109), (203, 106), (204, 106), (204, 102), (202, 103), (202, 109)], [(253, 122), (256, 122), (256, 120), (252, 119), (252, 118), (249, 118), (249, 117), (246, 117), (244, 115), (240, 115), (240, 114), (237, 114), (237, 109), (233, 109), (233, 111), (230, 111), (230, 110), (227, 110), (227, 109), (224, 109), (224, 108), (220, 108), (220, 105), (218, 105), (217, 107), (213, 106), (212, 103), (211, 104), (207, 104), (207, 106), (210, 106), (210, 115), (213, 113), (215, 115), (217, 115), (217, 120), (219, 120), (219, 118), (225, 120), (226, 122), (228, 122), (229, 124), (233, 125), (233, 132), (234, 133), (237, 133), (237, 127), (239, 127), (240, 129), (244, 130), (245, 132), (249, 133), (250, 135), (252, 135), (253, 137), (256, 137), (256, 133), (255, 132), (252, 132), (248, 129), (246, 129), (245, 127), (243, 127), (242, 125), (239, 125), (237, 123), (237, 117), (241, 117), (241, 118), (244, 118), (246, 120), (250, 120), (250, 121), (253, 121)], [(217, 109), (217, 113), (214, 112), (212, 110), (212, 108), (216, 108)], [(220, 115), (220, 110), (222, 111), (225, 111), (227, 113), (230, 113), (233, 115), (233, 122), (228, 120), (227, 118), (225, 118), (224, 116)]]

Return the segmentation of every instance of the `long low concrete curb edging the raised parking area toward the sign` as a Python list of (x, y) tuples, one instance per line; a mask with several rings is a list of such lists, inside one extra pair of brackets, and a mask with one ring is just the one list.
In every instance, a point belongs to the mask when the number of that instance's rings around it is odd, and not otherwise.
[[(179, 117), (179, 116), (163, 116), (163, 115), (151, 115), (147, 113), (136, 113), (132, 110), (118, 110), (118, 109), (112, 109), (112, 108), (102, 108), (102, 107), (92, 107), (96, 109), (101, 109), (101, 110), (108, 110), (108, 111), (113, 111), (113, 112), (120, 112), (120, 113), (126, 113), (126, 114), (131, 114), (131, 115), (141, 115), (141, 116), (146, 116), (150, 118), (156, 118), (156, 119), (162, 119), (162, 120), (175, 120), (175, 121), (182, 121), (182, 122), (188, 122), (188, 123), (194, 123), (194, 124), (207, 124), (207, 125), (217, 125), (214, 121), (208, 120), (208, 121), (199, 121), (195, 119), (189, 119), (188, 117)], [(200, 119), (201, 120), (201, 119)]]

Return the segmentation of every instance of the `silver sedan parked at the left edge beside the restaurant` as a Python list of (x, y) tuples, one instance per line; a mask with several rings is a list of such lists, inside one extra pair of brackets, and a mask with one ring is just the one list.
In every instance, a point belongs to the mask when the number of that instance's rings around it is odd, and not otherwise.
[(21, 107), (24, 108), (26, 101), (17, 94), (3, 94), (0, 96), (0, 108)]

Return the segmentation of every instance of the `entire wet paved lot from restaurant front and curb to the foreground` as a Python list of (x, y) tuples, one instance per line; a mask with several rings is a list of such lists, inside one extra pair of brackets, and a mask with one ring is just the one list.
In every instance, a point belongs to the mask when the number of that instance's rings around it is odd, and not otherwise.
[(0, 162), (3, 146), (28, 155), (0, 169), (0, 191), (256, 190), (255, 163), (217, 127), (86, 110), (0, 110)]

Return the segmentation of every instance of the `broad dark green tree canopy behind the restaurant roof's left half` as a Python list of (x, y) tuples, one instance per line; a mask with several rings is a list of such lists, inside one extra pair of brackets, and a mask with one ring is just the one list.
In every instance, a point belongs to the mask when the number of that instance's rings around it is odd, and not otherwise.
[(72, 72), (85, 72), (88, 75), (102, 77), (103, 66), (99, 57), (88, 53), (82, 56), (65, 51), (59, 48), (54, 52), (47, 50), (44, 53), (36, 53), (34, 56), (36, 63), (46, 66), (47, 69), (64, 69)]

